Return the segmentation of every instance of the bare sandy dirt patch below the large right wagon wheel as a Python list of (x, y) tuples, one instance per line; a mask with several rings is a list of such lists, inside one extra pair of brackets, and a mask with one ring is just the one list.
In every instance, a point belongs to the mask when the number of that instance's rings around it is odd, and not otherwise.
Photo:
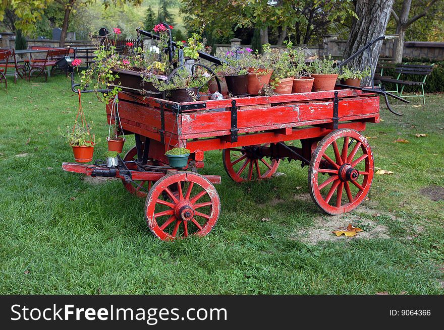
[[(390, 238), (388, 235), (388, 227), (378, 224), (372, 220), (368, 220), (357, 213), (375, 215), (376, 210), (364, 207), (357, 208), (353, 213), (346, 213), (338, 216), (320, 215), (314, 219), (312, 227), (304, 228), (295, 233), (290, 239), (300, 240), (310, 244), (317, 244), (321, 241), (339, 241), (352, 239), (377, 239)], [(380, 212), (379, 212), (380, 213)], [(345, 228), (348, 224), (362, 228), (362, 232), (358, 232), (355, 237), (336, 236), (332, 231)]]

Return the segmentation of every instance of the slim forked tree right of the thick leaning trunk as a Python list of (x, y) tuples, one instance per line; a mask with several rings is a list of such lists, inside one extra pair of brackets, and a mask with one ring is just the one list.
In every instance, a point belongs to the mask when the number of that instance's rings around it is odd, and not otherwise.
[(395, 61), (400, 63), (402, 61), (402, 54), (404, 49), (404, 40), (406, 37), (407, 29), (417, 20), (434, 15), (438, 12), (439, 9), (442, 10), (439, 6), (434, 6), (435, 4), (441, 2), (440, 0), (431, 0), (431, 1), (417, 1), (415, 3), (415, 8), (419, 9), (419, 13), (409, 18), (410, 9), (412, 6), (412, 0), (403, 0), (401, 10), (397, 11), (395, 8), (392, 8), (392, 15), (396, 22), (396, 34), (399, 35), (399, 38), (395, 40), (394, 49), (393, 49), (393, 58)]

